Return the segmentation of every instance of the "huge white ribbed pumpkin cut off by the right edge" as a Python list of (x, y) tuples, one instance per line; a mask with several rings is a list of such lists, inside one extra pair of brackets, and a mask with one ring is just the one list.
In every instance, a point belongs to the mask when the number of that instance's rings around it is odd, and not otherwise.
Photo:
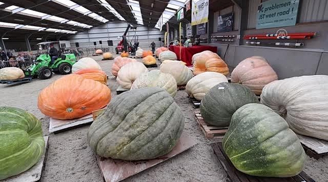
[(328, 76), (299, 76), (263, 87), (261, 103), (282, 115), (296, 133), (328, 141)]

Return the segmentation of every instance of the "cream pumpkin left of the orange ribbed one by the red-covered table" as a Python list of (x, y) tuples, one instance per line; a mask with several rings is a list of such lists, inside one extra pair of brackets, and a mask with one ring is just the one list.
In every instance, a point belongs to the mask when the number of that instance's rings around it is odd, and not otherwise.
[(159, 67), (160, 72), (170, 73), (178, 85), (185, 85), (193, 77), (192, 71), (181, 63), (167, 63)]

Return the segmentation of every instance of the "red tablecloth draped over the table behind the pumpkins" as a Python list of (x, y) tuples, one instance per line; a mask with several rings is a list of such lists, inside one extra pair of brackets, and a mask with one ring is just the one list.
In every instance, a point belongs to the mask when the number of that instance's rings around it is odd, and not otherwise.
[(169, 50), (174, 52), (177, 55), (178, 60), (181, 60), (181, 61), (187, 63), (187, 66), (192, 65), (191, 58), (196, 53), (200, 53), (200, 52), (207, 51), (207, 50), (217, 53), (217, 47), (212, 47), (209, 45), (193, 45), (193, 47), (191, 47), (191, 48), (181, 47), (181, 56), (180, 56), (180, 46), (170, 45)]

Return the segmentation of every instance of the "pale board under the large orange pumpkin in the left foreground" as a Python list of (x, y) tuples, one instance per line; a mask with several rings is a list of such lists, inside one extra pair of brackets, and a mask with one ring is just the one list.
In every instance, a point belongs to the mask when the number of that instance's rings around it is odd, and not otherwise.
[(81, 127), (86, 124), (91, 124), (93, 122), (92, 114), (88, 114), (81, 118), (77, 119), (69, 119), (69, 120), (62, 120), (62, 119), (54, 119), (50, 118), (49, 122), (49, 132), (50, 133), (59, 133), (62, 131), (70, 130), (73, 128)]

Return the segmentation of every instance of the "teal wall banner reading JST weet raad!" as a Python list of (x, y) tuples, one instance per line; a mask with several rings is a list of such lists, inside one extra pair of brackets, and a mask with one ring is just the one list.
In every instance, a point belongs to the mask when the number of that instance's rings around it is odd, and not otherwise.
[(299, 0), (271, 0), (257, 9), (256, 29), (296, 25)]

